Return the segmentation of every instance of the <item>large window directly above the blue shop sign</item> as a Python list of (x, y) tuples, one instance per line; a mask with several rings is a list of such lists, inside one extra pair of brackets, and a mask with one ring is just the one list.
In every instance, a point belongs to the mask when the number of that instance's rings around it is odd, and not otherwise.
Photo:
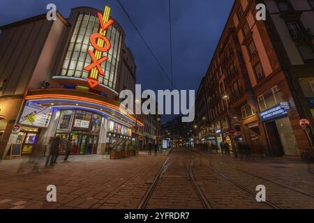
[(265, 91), (262, 95), (257, 97), (260, 112), (269, 109), (270, 107), (274, 107), (282, 101), (283, 98), (281, 92), (278, 89), (278, 86), (274, 86), (273, 88)]

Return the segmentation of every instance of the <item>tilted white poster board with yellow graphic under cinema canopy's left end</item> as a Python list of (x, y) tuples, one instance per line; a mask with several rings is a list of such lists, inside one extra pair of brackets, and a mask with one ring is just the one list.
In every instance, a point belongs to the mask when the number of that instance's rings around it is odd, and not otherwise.
[(27, 102), (19, 123), (21, 125), (31, 125), (33, 127), (47, 128), (52, 116), (52, 109), (34, 102)]

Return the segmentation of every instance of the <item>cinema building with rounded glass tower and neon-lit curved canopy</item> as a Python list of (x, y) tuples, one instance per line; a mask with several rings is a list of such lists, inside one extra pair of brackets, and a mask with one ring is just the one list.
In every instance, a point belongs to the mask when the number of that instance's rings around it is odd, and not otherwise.
[(87, 51), (96, 52), (90, 36), (103, 31), (97, 13), (109, 17), (110, 11), (79, 7), (68, 19), (57, 13), (57, 20), (48, 21), (44, 14), (0, 27), (2, 158), (12, 145), (27, 155), (36, 141), (47, 149), (57, 136), (73, 137), (73, 155), (102, 154), (107, 142), (131, 143), (135, 125), (142, 127), (119, 109), (119, 91), (135, 89), (136, 66), (114, 19), (104, 35), (111, 45), (100, 64), (104, 75), (84, 70), (93, 63)]

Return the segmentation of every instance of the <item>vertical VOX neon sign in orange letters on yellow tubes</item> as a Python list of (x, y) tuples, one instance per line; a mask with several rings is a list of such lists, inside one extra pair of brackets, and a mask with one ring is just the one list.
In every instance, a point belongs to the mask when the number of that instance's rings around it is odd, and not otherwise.
[(100, 23), (100, 29), (98, 33), (91, 34), (89, 38), (89, 43), (94, 47), (94, 51), (89, 49), (87, 52), (91, 56), (91, 64), (86, 66), (84, 70), (89, 71), (89, 77), (87, 77), (87, 82), (91, 88), (94, 88), (99, 84), (98, 76), (104, 76), (105, 73), (101, 68), (101, 63), (107, 61), (108, 57), (103, 56), (103, 53), (108, 52), (111, 48), (110, 40), (105, 36), (107, 29), (114, 23), (113, 20), (109, 19), (110, 7), (105, 6), (103, 15), (97, 13), (97, 17)]

